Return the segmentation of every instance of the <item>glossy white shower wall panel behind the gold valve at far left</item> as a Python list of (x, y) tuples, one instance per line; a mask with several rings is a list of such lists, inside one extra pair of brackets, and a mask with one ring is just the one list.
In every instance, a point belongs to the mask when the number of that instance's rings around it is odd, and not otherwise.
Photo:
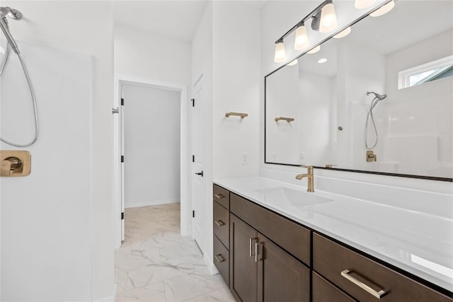
[[(56, 47), (23, 42), (19, 46), (39, 104), (41, 132), (38, 141), (25, 148), (32, 156), (31, 174), (0, 178), (1, 299), (89, 301), (88, 137), (93, 61), (87, 54)], [(34, 134), (32, 111), (21, 65), (11, 56), (1, 80), (1, 136), (14, 142), (30, 141)], [(81, 124), (74, 127), (74, 121)], [(19, 149), (4, 143), (0, 147)], [(62, 177), (66, 181), (60, 181)]]

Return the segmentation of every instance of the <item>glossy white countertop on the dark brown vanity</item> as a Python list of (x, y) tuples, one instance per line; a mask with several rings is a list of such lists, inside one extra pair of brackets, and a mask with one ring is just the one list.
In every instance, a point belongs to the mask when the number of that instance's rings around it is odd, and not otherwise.
[(316, 187), (316, 192), (309, 193), (304, 187), (268, 178), (229, 178), (214, 183), (453, 291), (453, 215), (425, 214)]

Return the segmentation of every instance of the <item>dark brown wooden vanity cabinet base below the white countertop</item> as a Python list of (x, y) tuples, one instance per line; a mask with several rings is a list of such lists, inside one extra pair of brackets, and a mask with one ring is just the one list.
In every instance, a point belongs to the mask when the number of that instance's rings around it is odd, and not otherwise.
[(236, 301), (453, 301), (222, 187), (215, 194), (214, 264)]

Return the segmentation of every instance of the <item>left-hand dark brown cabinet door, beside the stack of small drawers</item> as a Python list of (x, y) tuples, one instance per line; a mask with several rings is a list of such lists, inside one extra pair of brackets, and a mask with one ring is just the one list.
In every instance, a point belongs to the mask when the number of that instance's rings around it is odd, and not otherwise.
[(256, 302), (255, 243), (258, 233), (233, 214), (230, 216), (230, 290), (237, 301)]

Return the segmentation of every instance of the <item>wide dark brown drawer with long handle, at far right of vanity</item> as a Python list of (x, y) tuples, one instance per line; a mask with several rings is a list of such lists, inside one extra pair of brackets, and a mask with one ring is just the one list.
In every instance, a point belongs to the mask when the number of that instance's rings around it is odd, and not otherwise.
[(359, 301), (378, 301), (379, 298), (353, 283), (355, 280), (371, 287), (370, 290), (376, 293), (384, 291), (380, 301), (452, 301), (451, 298), (316, 233), (313, 234), (313, 269)]

